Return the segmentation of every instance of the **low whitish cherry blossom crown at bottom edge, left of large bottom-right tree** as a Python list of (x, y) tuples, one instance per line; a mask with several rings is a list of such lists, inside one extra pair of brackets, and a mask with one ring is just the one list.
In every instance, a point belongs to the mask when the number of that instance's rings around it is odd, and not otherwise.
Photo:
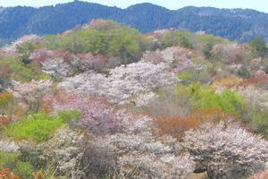
[(124, 177), (184, 179), (193, 172), (194, 162), (187, 155), (132, 154), (121, 157), (119, 167), (119, 175)]

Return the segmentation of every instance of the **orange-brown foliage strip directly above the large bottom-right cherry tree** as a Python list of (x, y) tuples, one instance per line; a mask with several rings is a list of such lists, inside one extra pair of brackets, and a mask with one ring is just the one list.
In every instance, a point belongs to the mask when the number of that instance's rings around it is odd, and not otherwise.
[(209, 108), (199, 110), (185, 118), (159, 116), (156, 118), (155, 122), (158, 124), (158, 127), (163, 134), (169, 134), (181, 139), (184, 132), (197, 128), (202, 124), (219, 123), (220, 121), (227, 123), (234, 118), (234, 116), (225, 114), (219, 109)]

